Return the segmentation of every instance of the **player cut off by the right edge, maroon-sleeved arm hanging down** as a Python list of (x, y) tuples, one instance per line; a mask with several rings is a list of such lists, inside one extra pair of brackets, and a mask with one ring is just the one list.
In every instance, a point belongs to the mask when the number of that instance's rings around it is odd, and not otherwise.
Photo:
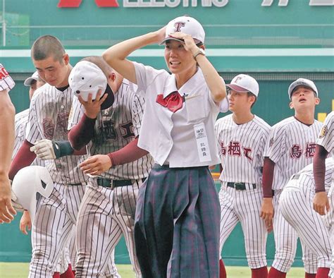
[[(316, 154), (314, 155), (314, 180), (316, 183), (316, 194), (314, 195), (314, 210), (321, 215), (325, 215), (324, 222), (330, 229), (330, 242), (332, 244), (332, 264), (330, 266), (330, 277), (334, 277), (334, 171), (332, 174), (332, 184), (326, 195), (325, 188), (325, 159), (328, 153), (334, 159), (334, 111), (327, 115), (321, 132), (316, 141)], [(334, 162), (333, 162), (334, 164)], [(328, 201), (329, 198), (329, 201)]]

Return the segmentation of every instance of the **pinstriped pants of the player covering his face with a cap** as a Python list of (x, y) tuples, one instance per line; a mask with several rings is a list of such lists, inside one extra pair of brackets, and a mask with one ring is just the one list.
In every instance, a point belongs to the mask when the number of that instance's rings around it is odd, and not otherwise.
[(86, 187), (76, 230), (77, 277), (104, 277), (107, 262), (120, 236), (125, 237), (136, 277), (142, 277), (135, 255), (133, 226), (137, 195), (142, 181), (114, 189)]

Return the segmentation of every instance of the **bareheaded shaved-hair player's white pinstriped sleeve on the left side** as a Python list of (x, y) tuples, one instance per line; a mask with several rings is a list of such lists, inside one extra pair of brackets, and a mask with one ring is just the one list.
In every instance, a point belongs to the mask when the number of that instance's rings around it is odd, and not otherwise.
[(38, 140), (44, 139), (42, 131), (39, 128), (39, 121), (36, 109), (37, 97), (32, 97), (29, 108), (29, 117), (27, 121), (27, 128), (25, 129), (25, 140), (35, 144)]

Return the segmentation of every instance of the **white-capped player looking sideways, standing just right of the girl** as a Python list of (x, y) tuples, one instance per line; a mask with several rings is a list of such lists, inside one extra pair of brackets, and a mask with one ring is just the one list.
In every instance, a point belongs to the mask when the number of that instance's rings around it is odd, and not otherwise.
[[(215, 125), (223, 169), (219, 192), (220, 250), (237, 222), (241, 222), (252, 277), (266, 278), (267, 231), (260, 210), (263, 153), (270, 126), (251, 112), (259, 94), (259, 84), (254, 78), (240, 74), (226, 87), (233, 114), (218, 119)], [(221, 278), (226, 277), (224, 271), (221, 273)]]

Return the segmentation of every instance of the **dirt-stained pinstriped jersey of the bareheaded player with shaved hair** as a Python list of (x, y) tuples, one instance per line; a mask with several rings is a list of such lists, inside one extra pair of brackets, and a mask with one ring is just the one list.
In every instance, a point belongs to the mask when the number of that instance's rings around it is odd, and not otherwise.
[[(37, 140), (68, 140), (68, 111), (72, 105), (73, 92), (70, 87), (61, 91), (49, 84), (37, 89), (30, 102), (26, 140), (34, 144)], [(78, 164), (85, 156), (70, 155), (50, 160), (47, 164), (55, 183), (86, 183)]]

